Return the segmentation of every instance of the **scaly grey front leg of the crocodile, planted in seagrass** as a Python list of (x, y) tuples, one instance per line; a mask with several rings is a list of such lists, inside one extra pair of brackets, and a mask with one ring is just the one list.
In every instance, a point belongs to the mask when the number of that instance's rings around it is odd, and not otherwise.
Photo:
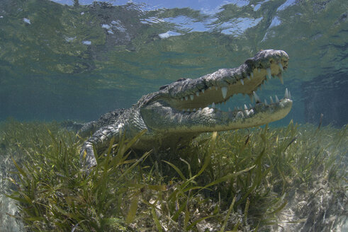
[(123, 124), (112, 124), (94, 132), (94, 134), (87, 139), (80, 150), (80, 162), (85, 168), (92, 168), (96, 166), (96, 153), (105, 151), (110, 146), (111, 139), (118, 142), (120, 133), (122, 132)]

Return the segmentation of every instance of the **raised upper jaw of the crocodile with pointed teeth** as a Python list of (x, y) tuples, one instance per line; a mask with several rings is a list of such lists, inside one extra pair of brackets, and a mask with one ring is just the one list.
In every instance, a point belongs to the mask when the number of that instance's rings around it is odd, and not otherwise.
[(162, 91), (171, 97), (176, 110), (204, 108), (222, 103), (237, 93), (253, 95), (264, 81), (277, 76), (288, 67), (288, 54), (281, 50), (263, 50), (235, 69), (220, 69), (199, 79), (177, 81)]

